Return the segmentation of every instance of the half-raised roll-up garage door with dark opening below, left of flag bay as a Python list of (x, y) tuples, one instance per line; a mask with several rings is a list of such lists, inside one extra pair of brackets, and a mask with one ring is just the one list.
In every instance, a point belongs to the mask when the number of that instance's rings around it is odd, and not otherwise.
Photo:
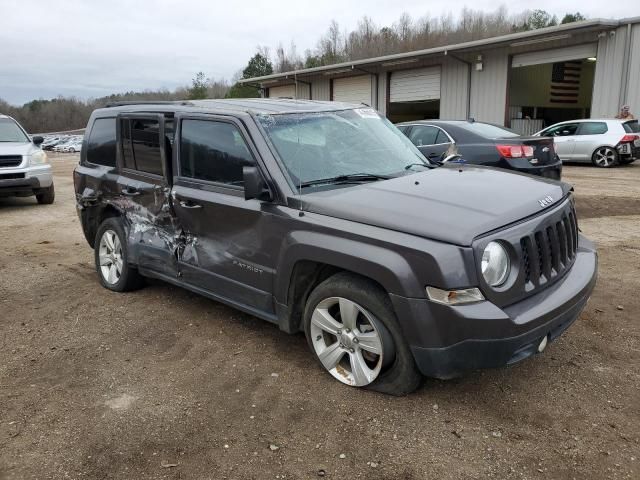
[(391, 74), (390, 102), (419, 102), (440, 98), (440, 67), (402, 70)]

